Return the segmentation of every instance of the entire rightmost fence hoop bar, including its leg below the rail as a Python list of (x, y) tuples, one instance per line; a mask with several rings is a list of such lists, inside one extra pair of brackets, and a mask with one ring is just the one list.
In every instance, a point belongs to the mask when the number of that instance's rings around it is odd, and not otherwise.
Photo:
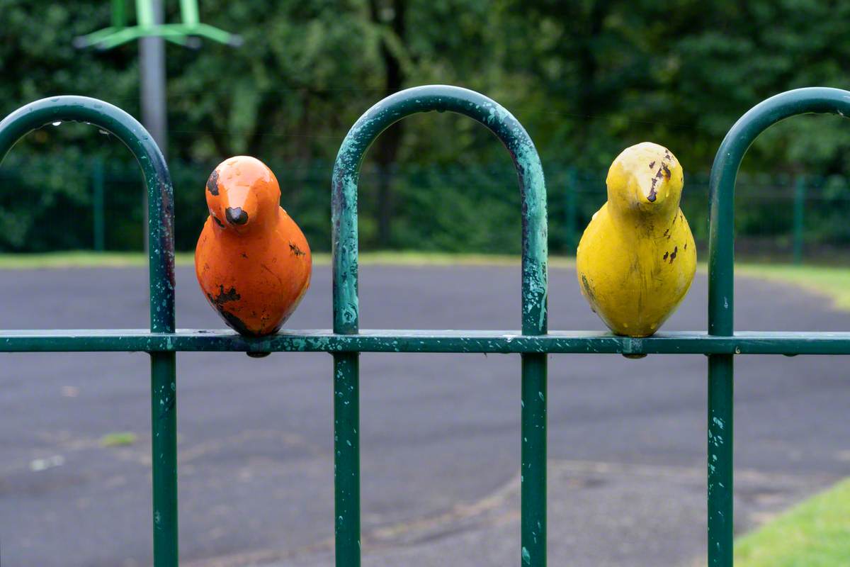
[[(734, 189), (741, 160), (753, 140), (772, 124), (807, 113), (850, 116), (850, 92), (798, 88), (754, 106), (729, 129), (711, 166), (708, 332), (734, 334)], [(733, 564), (734, 360), (708, 360), (708, 564)]]

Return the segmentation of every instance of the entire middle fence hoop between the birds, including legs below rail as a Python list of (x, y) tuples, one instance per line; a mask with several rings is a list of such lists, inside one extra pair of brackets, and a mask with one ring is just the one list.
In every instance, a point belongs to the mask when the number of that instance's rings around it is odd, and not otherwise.
[[(366, 150), (394, 122), (418, 112), (451, 111), (490, 128), (519, 176), (523, 220), (523, 333), (547, 332), (546, 184), (534, 143), (510, 112), (465, 88), (409, 88), (378, 102), (348, 131), (332, 179), (334, 332), (359, 330), (357, 184)], [(357, 353), (334, 354), (334, 478), (337, 567), (360, 565), (360, 453)], [(546, 565), (546, 354), (522, 357), (521, 564)], [(349, 445), (350, 441), (350, 445)]]

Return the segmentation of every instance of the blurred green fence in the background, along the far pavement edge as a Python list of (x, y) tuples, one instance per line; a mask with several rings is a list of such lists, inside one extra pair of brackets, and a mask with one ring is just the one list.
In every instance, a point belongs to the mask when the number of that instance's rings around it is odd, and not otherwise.
[[(215, 163), (171, 162), (178, 250), (192, 250), (207, 217), (203, 184)], [(331, 245), (329, 162), (274, 162), (281, 204), (316, 251)], [(549, 246), (572, 254), (606, 200), (604, 170), (549, 162)], [(392, 222), (379, 240), (377, 187), (389, 183)], [(365, 248), (519, 253), (519, 196), (510, 163), (405, 164), (362, 172)], [(736, 252), (744, 258), (836, 260), (850, 243), (848, 179), (836, 175), (746, 175), (736, 187)], [(143, 182), (135, 163), (96, 157), (8, 156), (0, 168), (0, 252), (139, 250)], [(708, 175), (685, 176), (682, 209), (697, 245), (708, 238)]]

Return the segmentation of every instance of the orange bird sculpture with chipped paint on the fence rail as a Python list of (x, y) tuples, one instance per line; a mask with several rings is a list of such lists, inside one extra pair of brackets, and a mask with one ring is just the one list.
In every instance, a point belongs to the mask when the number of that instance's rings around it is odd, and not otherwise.
[(213, 308), (236, 332), (277, 332), (310, 283), (310, 247), (280, 207), (275, 174), (235, 156), (207, 180), (210, 216), (195, 248), (195, 273)]

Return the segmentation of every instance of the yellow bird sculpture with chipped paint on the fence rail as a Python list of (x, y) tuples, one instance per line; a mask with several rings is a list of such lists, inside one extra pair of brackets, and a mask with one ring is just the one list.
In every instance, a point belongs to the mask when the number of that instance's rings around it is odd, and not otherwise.
[(608, 202), (581, 236), (581, 294), (618, 335), (649, 337), (685, 297), (696, 247), (679, 208), (683, 173), (664, 146), (643, 142), (608, 170)]

